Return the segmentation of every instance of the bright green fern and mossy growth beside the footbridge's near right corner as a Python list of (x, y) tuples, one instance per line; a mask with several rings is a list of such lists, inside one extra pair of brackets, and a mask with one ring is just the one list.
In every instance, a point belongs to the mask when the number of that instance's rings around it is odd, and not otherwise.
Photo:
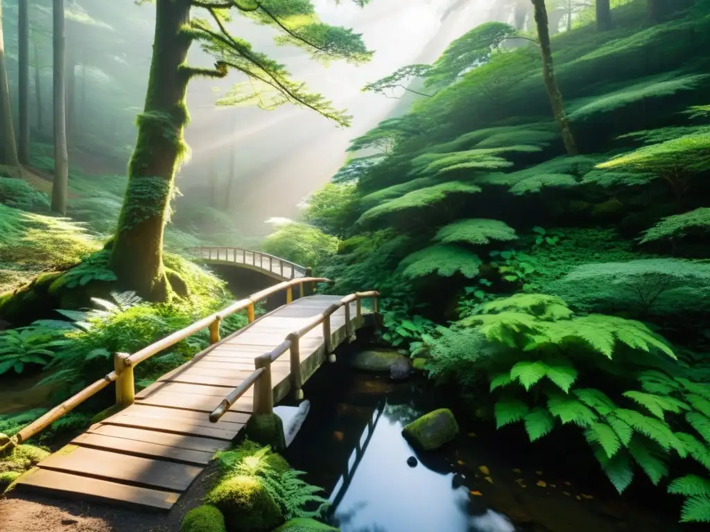
[[(327, 499), (316, 495), (322, 490), (304, 482), (301, 478), (304, 472), (290, 469), (288, 463), (268, 447), (261, 448), (246, 440), (234, 450), (217, 453), (217, 462), (224, 472), (221, 482), (234, 478), (257, 480), (287, 520), (319, 517), (327, 506)], [(210, 501), (216, 501), (216, 496), (217, 488), (205, 501), (212, 504)], [(308, 509), (312, 504), (318, 504), (317, 509)]]

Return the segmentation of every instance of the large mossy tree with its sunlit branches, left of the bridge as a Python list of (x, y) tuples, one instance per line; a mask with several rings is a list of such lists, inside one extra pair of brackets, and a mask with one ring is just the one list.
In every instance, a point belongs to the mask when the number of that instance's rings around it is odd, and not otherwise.
[[(146, 1), (146, 0), (143, 0)], [(364, 5), (369, 0), (354, 0)], [(191, 18), (201, 8), (209, 18)], [(129, 162), (129, 184), (109, 267), (126, 287), (153, 301), (170, 297), (163, 266), (163, 231), (174, 193), (175, 172), (187, 147), (183, 131), (188, 121), (185, 94), (194, 77), (225, 77), (228, 70), (245, 74), (249, 82), (237, 87), (223, 104), (253, 101), (271, 109), (293, 103), (321, 113), (342, 126), (350, 116), (333, 109), (320, 94), (293, 82), (283, 65), (256, 52), (226, 28), (231, 13), (280, 31), (280, 44), (305, 48), (312, 57), (364, 62), (372, 52), (361, 36), (321, 23), (310, 0), (155, 0), (155, 38), (143, 113), (138, 116), (136, 149)], [(216, 59), (214, 68), (187, 65), (192, 43)], [(243, 87), (256, 87), (248, 94)], [(177, 279), (175, 279), (177, 280)]]

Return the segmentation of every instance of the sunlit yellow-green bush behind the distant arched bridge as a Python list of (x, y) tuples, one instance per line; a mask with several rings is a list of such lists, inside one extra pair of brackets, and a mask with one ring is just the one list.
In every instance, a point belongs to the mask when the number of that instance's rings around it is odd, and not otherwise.
[(296, 264), (317, 267), (325, 257), (337, 252), (338, 239), (307, 223), (291, 222), (268, 235), (261, 249)]

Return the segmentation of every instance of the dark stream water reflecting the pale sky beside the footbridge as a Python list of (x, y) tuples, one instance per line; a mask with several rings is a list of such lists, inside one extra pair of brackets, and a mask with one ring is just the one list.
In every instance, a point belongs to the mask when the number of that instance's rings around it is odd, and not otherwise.
[[(393, 384), (350, 370), (340, 358), (307, 383), (310, 412), (287, 456), (327, 490), (330, 522), (342, 532), (702, 529), (677, 524), (675, 501), (659, 509), (643, 492), (618, 497), (608, 482), (569, 470), (574, 456), (511, 447), (488, 424), (461, 426), (459, 439), (444, 449), (416, 453), (401, 436), (403, 426), (445, 401), (427, 382)], [(411, 456), (415, 467), (407, 463)]]

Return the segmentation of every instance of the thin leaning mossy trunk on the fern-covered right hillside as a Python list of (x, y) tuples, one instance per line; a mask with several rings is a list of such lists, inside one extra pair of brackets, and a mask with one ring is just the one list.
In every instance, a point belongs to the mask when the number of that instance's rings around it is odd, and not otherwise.
[(537, 38), (540, 40), (540, 54), (542, 55), (542, 79), (545, 81), (547, 96), (550, 96), (550, 104), (552, 105), (552, 114), (555, 116), (555, 121), (559, 126), (559, 131), (562, 134), (562, 142), (567, 150), (567, 155), (577, 155), (577, 143), (574, 142), (572, 129), (569, 127), (567, 113), (564, 111), (564, 100), (562, 93), (557, 87), (557, 78), (555, 77), (555, 67), (552, 63), (552, 47), (550, 46), (550, 30), (547, 26), (547, 7), (545, 0), (531, 0), (535, 13), (535, 23), (537, 24)]

